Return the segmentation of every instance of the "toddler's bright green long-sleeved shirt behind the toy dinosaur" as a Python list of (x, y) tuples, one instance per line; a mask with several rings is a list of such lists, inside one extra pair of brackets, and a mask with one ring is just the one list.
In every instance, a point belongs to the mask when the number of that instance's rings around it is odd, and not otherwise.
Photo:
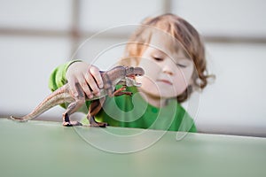
[[(66, 70), (75, 61), (59, 65), (52, 73), (49, 87), (52, 91), (66, 84)], [(121, 86), (117, 86), (118, 88)], [(106, 102), (96, 115), (96, 120), (107, 122), (113, 127), (138, 127), (170, 131), (197, 132), (193, 119), (177, 103), (176, 99), (168, 100), (168, 104), (158, 108), (148, 104), (140, 96), (136, 87), (127, 88), (133, 96), (106, 96)], [(87, 113), (90, 101), (80, 111)], [(62, 105), (65, 107), (64, 105)], [(89, 124), (87, 119), (82, 123)]]

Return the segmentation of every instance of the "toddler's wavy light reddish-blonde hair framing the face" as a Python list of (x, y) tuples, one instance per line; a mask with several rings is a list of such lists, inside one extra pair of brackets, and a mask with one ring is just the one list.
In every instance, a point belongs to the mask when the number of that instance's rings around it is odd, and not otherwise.
[(183, 94), (177, 96), (177, 101), (182, 103), (192, 94), (193, 88), (204, 89), (207, 86), (207, 78), (210, 77), (207, 74), (205, 47), (200, 34), (190, 23), (172, 13), (145, 19), (135, 33), (130, 36), (125, 49), (125, 57), (120, 61), (121, 65), (132, 65), (132, 62), (139, 63), (139, 56), (144, 53), (152, 38), (153, 30), (151, 27), (156, 27), (173, 36), (183, 46), (195, 65), (195, 70), (192, 73), (192, 84), (187, 87)]

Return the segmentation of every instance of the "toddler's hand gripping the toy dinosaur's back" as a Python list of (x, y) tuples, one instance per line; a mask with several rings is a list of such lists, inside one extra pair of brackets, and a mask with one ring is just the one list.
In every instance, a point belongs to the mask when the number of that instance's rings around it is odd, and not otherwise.
[(74, 96), (80, 96), (79, 92), (82, 91), (92, 98), (98, 96), (99, 89), (104, 87), (98, 67), (85, 62), (74, 62), (70, 65), (66, 71), (66, 80)]

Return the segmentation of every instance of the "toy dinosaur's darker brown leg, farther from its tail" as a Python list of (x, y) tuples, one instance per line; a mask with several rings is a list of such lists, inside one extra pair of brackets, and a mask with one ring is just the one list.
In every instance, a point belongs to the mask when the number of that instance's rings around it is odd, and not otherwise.
[(90, 103), (89, 113), (87, 115), (87, 119), (90, 122), (90, 127), (106, 127), (106, 122), (98, 122), (95, 120), (95, 115), (102, 109), (102, 104), (106, 100), (105, 97), (100, 100), (94, 100)]

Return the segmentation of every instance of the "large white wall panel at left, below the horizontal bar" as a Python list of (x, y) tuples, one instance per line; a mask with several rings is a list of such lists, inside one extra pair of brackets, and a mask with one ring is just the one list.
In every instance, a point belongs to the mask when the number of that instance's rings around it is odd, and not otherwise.
[[(25, 114), (50, 93), (49, 75), (68, 58), (69, 42), (67, 39), (28, 36), (0, 35), (0, 39), (0, 113)], [(50, 116), (58, 114), (47, 113)]]

